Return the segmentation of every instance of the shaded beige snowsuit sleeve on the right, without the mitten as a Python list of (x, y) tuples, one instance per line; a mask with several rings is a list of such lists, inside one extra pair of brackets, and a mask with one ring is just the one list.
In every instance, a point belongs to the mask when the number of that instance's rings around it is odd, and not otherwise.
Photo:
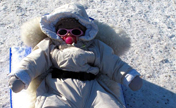
[(139, 75), (135, 69), (115, 55), (113, 49), (108, 45), (99, 40), (95, 40), (94, 45), (93, 52), (96, 56), (94, 65), (100, 68), (101, 73), (127, 87)]

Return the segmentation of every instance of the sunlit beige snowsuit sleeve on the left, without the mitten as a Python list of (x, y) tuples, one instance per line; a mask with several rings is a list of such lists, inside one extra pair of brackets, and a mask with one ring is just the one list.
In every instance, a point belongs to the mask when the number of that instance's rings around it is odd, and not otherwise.
[(28, 87), (31, 80), (38, 75), (46, 72), (51, 67), (51, 60), (49, 56), (49, 39), (42, 40), (33, 51), (25, 57), (19, 64), (16, 70), (12, 72)]

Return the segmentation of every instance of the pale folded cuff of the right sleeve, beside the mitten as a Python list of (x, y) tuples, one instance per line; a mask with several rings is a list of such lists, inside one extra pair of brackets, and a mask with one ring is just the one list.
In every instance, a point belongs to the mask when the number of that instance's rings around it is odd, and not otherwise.
[(131, 81), (136, 77), (136, 76), (140, 76), (140, 74), (136, 71), (136, 70), (131, 70), (129, 73), (127, 73), (125, 75), (125, 78), (123, 79), (123, 85), (125, 85), (126, 87), (129, 86), (129, 84), (131, 83)]

